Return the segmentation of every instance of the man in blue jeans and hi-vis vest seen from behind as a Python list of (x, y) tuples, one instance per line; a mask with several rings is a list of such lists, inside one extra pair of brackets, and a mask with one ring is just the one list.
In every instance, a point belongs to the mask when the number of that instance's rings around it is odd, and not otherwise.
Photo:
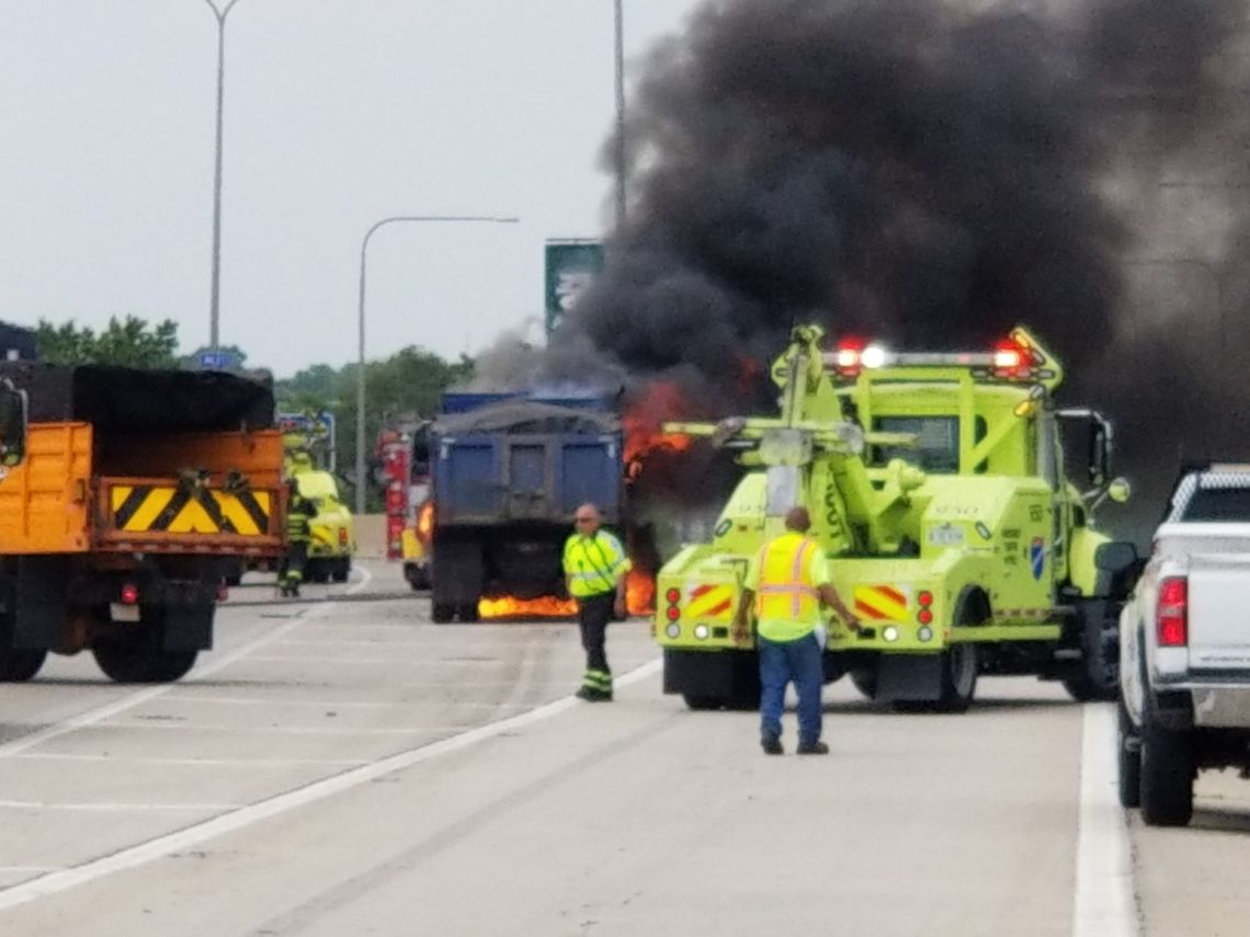
[(755, 612), (760, 655), (760, 745), (768, 755), (781, 755), (781, 711), (786, 683), (799, 693), (799, 755), (828, 755), (820, 741), (820, 691), (825, 682), (820, 606), (831, 607), (852, 631), (859, 620), (842, 605), (829, 575), (829, 561), (816, 541), (806, 536), (811, 516), (792, 507), (786, 532), (765, 543), (751, 560), (742, 601), (734, 620), (734, 637), (749, 638), (749, 616)]

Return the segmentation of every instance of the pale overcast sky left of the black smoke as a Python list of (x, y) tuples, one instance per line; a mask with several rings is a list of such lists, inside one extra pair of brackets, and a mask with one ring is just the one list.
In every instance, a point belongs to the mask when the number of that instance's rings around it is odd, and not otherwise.
[[(695, 0), (625, 0), (626, 74)], [(206, 0), (0, 0), (0, 319), (174, 319), (208, 344)], [(289, 376), (475, 352), (542, 310), (542, 242), (611, 216), (611, 0), (239, 0), (228, 20), (222, 344)]]

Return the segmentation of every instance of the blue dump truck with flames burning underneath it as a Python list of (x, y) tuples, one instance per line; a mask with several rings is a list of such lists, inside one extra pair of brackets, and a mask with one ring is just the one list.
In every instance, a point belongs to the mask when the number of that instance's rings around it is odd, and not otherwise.
[(564, 598), (578, 505), (619, 526), (622, 434), (605, 397), (448, 392), (430, 436), (432, 618), (476, 621), (482, 598)]

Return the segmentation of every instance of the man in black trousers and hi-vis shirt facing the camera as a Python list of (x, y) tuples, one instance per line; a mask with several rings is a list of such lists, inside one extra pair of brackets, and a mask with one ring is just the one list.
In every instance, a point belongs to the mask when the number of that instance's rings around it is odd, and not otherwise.
[(604, 641), (612, 615), (625, 616), (625, 573), (629, 557), (621, 542), (605, 530), (594, 505), (574, 515), (575, 531), (564, 545), (564, 576), (569, 595), (578, 600), (581, 646), (586, 648), (586, 673), (578, 696), (591, 702), (612, 698), (612, 672)]

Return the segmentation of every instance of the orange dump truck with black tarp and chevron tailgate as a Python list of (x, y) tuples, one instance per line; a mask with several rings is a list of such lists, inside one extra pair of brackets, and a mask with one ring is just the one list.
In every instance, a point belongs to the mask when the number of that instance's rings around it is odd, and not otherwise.
[(0, 680), (91, 650), (122, 682), (212, 646), (222, 573), (282, 550), (272, 391), (220, 372), (0, 364), (26, 394), (0, 478)]

